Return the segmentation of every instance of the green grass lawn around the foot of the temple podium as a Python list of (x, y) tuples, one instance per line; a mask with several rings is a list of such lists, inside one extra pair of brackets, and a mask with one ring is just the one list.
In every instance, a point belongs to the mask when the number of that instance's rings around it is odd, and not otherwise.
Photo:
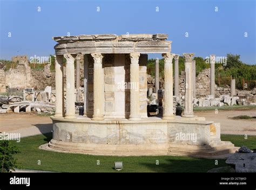
[[(123, 161), (123, 170), (120, 172), (207, 172), (209, 169), (227, 166), (225, 160), (214, 159), (153, 156), (153, 157), (110, 157), (85, 154), (58, 153), (39, 150), (39, 145), (51, 139), (51, 134), (36, 135), (22, 138), (21, 142), (12, 142), (17, 145), (21, 153), (15, 157), (23, 169), (37, 169), (56, 172), (117, 172), (113, 169), (114, 161)], [(242, 135), (221, 135), (222, 140), (232, 141), (235, 146), (245, 145), (256, 148), (256, 137), (248, 136), (245, 140)], [(38, 160), (41, 165), (38, 165)], [(99, 165), (97, 165), (99, 160)], [(159, 165), (156, 165), (156, 161)]]

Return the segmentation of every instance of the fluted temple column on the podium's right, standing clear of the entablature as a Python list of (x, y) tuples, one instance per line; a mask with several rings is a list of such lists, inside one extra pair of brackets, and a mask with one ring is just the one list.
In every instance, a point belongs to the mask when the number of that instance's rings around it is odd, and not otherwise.
[(185, 110), (183, 117), (194, 117), (193, 113), (193, 77), (192, 77), (192, 59), (194, 53), (183, 53), (185, 57)]

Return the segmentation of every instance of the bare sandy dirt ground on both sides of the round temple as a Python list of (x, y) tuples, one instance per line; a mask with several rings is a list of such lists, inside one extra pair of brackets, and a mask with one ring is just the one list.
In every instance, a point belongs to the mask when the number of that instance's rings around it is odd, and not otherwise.
[[(195, 112), (196, 116), (220, 123), (221, 134), (256, 135), (256, 120), (230, 119), (235, 116), (256, 116), (256, 110)], [(21, 133), (21, 137), (49, 133), (52, 131), (50, 117), (36, 116), (33, 113), (1, 113), (0, 132)]]

